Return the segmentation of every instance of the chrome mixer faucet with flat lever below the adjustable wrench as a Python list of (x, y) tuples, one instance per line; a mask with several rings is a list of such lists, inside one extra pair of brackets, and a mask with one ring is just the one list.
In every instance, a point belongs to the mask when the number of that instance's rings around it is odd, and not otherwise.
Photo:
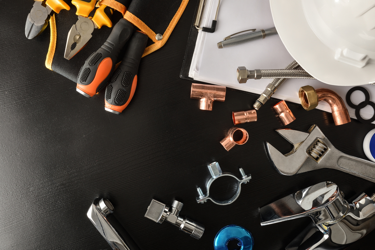
[(322, 182), (260, 209), (261, 225), (309, 216), (312, 222), (286, 250), (342, 250), (375, 228), (375, 194), (352, 203), (332, 182)]

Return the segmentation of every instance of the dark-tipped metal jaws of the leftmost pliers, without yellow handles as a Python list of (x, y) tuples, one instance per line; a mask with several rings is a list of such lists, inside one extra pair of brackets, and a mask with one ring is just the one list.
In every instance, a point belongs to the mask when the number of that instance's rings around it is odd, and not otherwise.
[(28, 39), (39, 36), (48, 25), (52, 9), (45, 1), (36, 0), (26, 19), (25, 35)]

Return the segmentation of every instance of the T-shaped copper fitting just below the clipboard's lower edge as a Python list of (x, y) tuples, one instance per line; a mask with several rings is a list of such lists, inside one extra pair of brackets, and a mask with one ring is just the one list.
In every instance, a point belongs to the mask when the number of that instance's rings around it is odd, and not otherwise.
[(191, 84), (191, 99), (199, 99), (200, 109), (212, 110), (213, 101), (225, 101), (226, 87), (208, 84)]

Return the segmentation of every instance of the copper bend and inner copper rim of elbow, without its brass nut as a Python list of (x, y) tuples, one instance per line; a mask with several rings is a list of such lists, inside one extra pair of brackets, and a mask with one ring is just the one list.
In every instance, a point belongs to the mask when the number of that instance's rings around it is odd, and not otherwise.
[[(332, 91), (328, 88), (317, 88), (315, 92), (318, 98), (318, 102), (324, 101), (330, 105), (335, 125), (341, 125), (349, 123), (351, 121), (348, 109), (345, 106), (344, 101), (342, 100), (341, 96), (339, 96), (335, 91)], [(309, 98), (308, 96), (306, 96), (306, 93), (300, 93), (299, 97), (302, 106), (307, 106)]]

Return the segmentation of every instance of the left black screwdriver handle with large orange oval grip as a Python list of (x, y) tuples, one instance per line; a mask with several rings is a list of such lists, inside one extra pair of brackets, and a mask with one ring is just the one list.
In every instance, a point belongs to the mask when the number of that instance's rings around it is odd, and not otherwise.
[(133, 33), (134, 25), (120, 19), (107, 41), (87, 58), (77, 79), (77, 91), (86, 97), (93, 97), (101, 90), (113, 72), (118, 54)]

